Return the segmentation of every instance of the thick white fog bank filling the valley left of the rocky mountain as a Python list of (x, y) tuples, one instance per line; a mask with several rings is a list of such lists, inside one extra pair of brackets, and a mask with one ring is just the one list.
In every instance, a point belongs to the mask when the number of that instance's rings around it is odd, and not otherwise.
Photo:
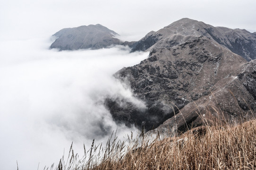
[[(105, 96), (132, 93), (112, 75), (148, 53), (119, 46), (101, 50), (49, 50), (43, 39), (0, 42), (1, 169), (35, 170), (58, 164), (72, 141), (83, 153), (95, 139), (104, 142), (136, 129), (117, 125)], [(2, 154), (4, 153), (4, 154)], [(17, 163), (16, 163), (17, 161)]]

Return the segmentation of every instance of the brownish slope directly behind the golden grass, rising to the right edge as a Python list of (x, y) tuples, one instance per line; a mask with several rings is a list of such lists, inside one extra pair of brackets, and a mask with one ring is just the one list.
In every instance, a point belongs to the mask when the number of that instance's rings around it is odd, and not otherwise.
[(176, 117), (166, 120), (155, 130), (170, 131), (173, 127), (184, 131), (191, 126), (230, 124), (255, 118), (256, 60), (252, 60), (230, 76), (216, 83), (209, 95), (182, 108)]

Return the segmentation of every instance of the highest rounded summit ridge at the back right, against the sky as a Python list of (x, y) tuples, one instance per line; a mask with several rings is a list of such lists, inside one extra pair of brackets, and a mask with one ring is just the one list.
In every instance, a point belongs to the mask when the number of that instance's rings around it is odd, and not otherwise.
[(244, 29), (214, 27), (189, 18), (180, 19), (157, 32), (147, 34), (134, 44), (132, 51), (170, 48), (202, 35), (239, 54), (247, 61), (256, 59), (256, 33)]

